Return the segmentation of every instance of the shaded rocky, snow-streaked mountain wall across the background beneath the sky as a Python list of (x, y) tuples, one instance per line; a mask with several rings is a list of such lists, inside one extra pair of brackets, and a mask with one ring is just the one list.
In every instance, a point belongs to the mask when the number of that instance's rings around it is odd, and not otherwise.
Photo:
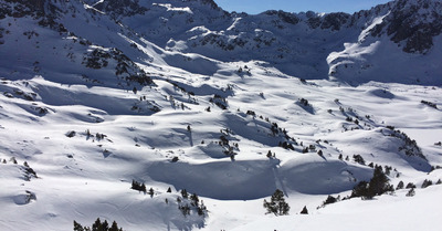
[[(303, 78), (330, 75), (357, 84), (377, 75), (376, 81), (381, 82), (417, 83), (419, 78), (423, 84), (440, 84), (438, 73), (442, 69), (434, 63), (441, 50), (439, 1), (396, 1), (352, 15), (283, 11), (248, 15), (213, 6), (201, 6), (199, 1), (143, 1), (143, 7), (137, 8), (144, 9), (141, 13), (118, 14), (118, 19), (170, 51), (199, 53), (224, 62), (262, 60)], [(116, 6), (110, 9), (110, 14), (120, 11)], [(352, 43), (356, 45), (348, 51), (346, 44)], [(343, 49), (345, 56), (356, 57), (327, 62), (330, 53)], [(392, 65), (385, 67), (383, 60)], [(350, 65), (345, 74), (337, 70), (344, 67), (341, 64)], [(398, 66), (409, 70), (404, 76), (392, 77)]]

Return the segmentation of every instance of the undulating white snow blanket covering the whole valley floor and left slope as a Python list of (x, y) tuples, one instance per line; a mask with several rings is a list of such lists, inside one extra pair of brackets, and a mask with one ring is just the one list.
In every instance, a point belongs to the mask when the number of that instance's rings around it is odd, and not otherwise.
[[(31, 18), (1, 21), (10, 32), (3, 33), (0, 45), (0, 161), (6, 160), (0, 162), (0, 230), (72, 230), (73, 220), (91, 225), (98, 217), (129, 231), (439, 230), (442, 187), (420, 186), (442, 178), (442, 170), (429, 172), (431, 166), (442, 166), (442, 147), (435, 145), (442, 141), (442, 90), (397, 81), (409, 74), (398, 66), (377, 69), (382, 80), (376, 72), (360, 78), (340, 72), (346, 63), (387, 62), (380, 57), (394, 51), (387, 39), (370, 41), (362, 32), (359, 43), (347, 41), (340, 50), (323, 54), (323, 64), (337, 81), (328, 75), (302, 81), (304, 76), (267, 61), (186, 53), (189, 43), (179, 38), (152, 43), (106, 17), (97, 20), (99, 14), (73, 2), (78, 12), (62, 22), (75, 34), (36, 27)], [(155, 9), (194, 14), (181, 4), (158, 3)], [(240, 21), (227, 25), (224, 33), (242, 30)], [(208, 28), (187, 33), (198, 36), (213, 30)], [(29, 31), (39, 35), (23, 35)], [(271, 36), (265, 30), (253, 33)], [(92, 44), (81, 44), (84, 38)], [(436, 41), (441, 45), (440, 36)], [(118, 78), (113, 59), (97, 70), (83, 63), (94, 50), (113, 48), (155, 84)], [(397, 55), (406, 63), (414, 59)], [(440, 57), (438, 51), (429, 55)], [(385, 72), (391, 73), (390, 81)], [(215, 105), (220, 98), (227, 109)], [(281, 132), (272, 133), (272, 123)], [(390, 136), (387, 126), (417, 140), (425, 159), (399, 151), (403, 141)], [(283, 129), (293, 137), (294, 150), (278, 147), (285, 140)], [(220, 146), (221, 136), (232, 147), (238, 144), (234, 160)], [(308, 146), (315, 150), (303, 154)], [(267, 158), (269, 150), (275, 157)], [(354, 155), (362, 156), (366, 166), (355, 162)], [(392, 166), (390, 182), (415, 183), (415, 196), (406, 197), (408, 190), (402, 189), (318, 208), (328, 195), (344, 198), (358, 181), (369, 180), (370, 162)], [(151, 187), (155, 196), (131, 190), (134, 179)], [(166, 192), (169, 187), (171, 193)], [(177, 203), (181, 189), (200, 196), (208, 217), (182, 216)], [(290, 216), (265, 214), (263, 200), (275, 189), (284, 191)], [(304, 206), (308, 216), (298, 214)]]

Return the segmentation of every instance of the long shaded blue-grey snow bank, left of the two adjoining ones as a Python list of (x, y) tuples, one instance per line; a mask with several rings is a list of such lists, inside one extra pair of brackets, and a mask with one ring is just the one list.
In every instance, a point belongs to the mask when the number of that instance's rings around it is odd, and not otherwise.
[(157, 162), (146, 169), (154, 180), (168, 182), (203, 197), (220, 200), (253, 200), (272, 195), (275, 162), (260, 160), (206, 164)]

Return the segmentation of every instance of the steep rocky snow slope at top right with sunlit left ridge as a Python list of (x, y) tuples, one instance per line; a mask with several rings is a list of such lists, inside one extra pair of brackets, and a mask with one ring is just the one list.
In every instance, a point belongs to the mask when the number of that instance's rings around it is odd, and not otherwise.
[(330, 76), (350, 84), (440, 84), (441, 2), (396, 1), (376, 10), (358, 40), (329, 54)]

